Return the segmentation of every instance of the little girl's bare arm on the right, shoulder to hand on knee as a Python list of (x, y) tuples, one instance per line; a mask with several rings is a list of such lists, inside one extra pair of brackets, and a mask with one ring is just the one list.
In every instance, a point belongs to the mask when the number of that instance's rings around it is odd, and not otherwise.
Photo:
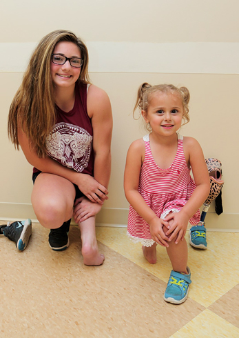
[(210, 191), (209, 175), (200, 144), (192, 137), (184, 137), (183, 149), (186, 161), (189, 163), (189, 166), (191, 166), (194, 175), (196, 189), (180, 212), (165, 217), (165, 221), (174, 219), (166, 235), (171, 234), (169, 237), (170, 240), (176, 237), (175, 243), (178, 243), (180, 239), (183, 240), (189, 219), (195, 214), (198, 208), (202, 206), (202, 203), (205, 202)]

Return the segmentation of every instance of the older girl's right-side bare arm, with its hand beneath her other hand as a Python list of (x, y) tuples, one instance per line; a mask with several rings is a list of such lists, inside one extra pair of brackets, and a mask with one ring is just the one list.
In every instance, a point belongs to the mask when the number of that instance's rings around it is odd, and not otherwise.
[[(87, 92), (87, 112), (92, 119), (93, 128), (94, 179), (107, 188), (111, 170), (112, 110), (107, 94), (94, 85)], [(77, 223), (85, 221), (96, 215), (101, 207), (102, 204), (93, 204), (84, 197), (78, 199), (75, 203), (74, 219)]]

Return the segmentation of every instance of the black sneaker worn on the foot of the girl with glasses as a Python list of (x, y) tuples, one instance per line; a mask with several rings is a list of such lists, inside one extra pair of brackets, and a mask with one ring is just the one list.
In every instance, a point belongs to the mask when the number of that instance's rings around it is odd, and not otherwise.
[(66, 221), (58, 229), (51, 229), (49, 234), (49, 245), (52, 250), (62, 251), (68, 248), (69, 238), (68, 233), (70, 229), (70, 221)]

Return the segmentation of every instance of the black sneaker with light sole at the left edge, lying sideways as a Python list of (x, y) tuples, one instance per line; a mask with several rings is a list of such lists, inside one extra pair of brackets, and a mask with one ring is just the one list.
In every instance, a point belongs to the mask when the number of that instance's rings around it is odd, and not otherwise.
[(8, 222), (8, 224), (0, 226), (0, 233), (14, 241), (18, 250), (23, 251), (28, 246), (32, 235), (32, 221), (25, 219), (25, 221)]

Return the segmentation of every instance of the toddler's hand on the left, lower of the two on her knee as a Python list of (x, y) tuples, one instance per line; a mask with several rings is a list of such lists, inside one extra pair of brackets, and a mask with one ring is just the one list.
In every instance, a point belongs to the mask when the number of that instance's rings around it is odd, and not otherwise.
[(158, 217), (155, 217), (149, 223), (152, 239), (154, 239), (154, 241), (156, 241), (156, 243), (158, 243), (160, 246), (166, 246), (168, 248), (169, 244), (167, 241), (169, 241), (169, 237), (167, 237), (163, 231), (164, 226), (169, 229), (169, 223)]

